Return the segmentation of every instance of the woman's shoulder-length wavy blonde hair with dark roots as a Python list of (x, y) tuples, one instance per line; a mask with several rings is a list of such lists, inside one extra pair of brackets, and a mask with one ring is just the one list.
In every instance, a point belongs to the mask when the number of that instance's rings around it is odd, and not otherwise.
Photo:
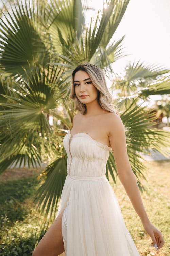
[(86, 113), (86, 105), (81, 103), (75, 94), (74, 76), (75, 76), (75, 73), (78, 72), (79, 70), (85, 71), (90, 76), (90, 79), (93, 85), (98, 90), (97, 99), (98, 99), (99, 105), (104, 110), (114, 112), (119, 115), (118, 110), (116, 109), (116, 106), (112, 104), (112, 95), (107, 88), (103, 71), (99, 67), (91, 63), (80, 64), (72, 72), (71, 90), (70, 90), (69, 97), (74, 100), (75, 109), (79, 110), (83, 115)]

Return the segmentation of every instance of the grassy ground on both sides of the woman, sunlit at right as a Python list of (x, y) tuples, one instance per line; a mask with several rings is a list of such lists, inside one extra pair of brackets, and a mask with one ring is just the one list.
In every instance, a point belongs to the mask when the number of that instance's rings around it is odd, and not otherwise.
[[(170, 161), (148, 161), (147, 182), (143, 182), (147, 191), (142, 200), (151, 222), (162, 231), (165, 245), (156, 252), (150, 248), (151, 238), (143, 229), (141, 221), (132, 207), (125, 190), (117, 179), (113, 186), (128, 230), (141, 256), (170, 256)], [(31, 197), (39, 186), (35, 176), (39, 171), (24, 171), (20, 179), (18, 170), (6, 172), (0, 181), (0, 255), (30, 256), (35, 244), (41, 239), (48, 225), (41, 229), (43, 216), (32, 207)], [(49, 224), (51, 225), (51, 223)]]

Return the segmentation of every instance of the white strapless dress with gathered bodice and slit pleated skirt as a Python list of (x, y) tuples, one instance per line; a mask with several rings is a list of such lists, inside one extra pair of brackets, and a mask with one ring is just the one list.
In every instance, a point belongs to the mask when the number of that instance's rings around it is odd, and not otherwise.
[[(105, 177), (111, 147), (86, 133), (63, 139), (67, 176), (57, 216), (64, 210), (64, 256), (139, 256)], [(57, 217), (56, 216), (56, 217)]]

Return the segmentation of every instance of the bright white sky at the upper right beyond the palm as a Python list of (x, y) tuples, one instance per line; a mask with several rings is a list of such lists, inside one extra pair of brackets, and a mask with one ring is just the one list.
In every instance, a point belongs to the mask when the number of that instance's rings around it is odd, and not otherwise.
[[(103, 0), (87, 3), (96, 10), (103, 7)], [(115, 72), (123, 72), (126, 63), (138, 60), (170, 69), (169, 31), (170, 0), (130, 0), (113, 37), (118, 40), (125, 35), (124, 52), (130, 55), (114, 63)]]

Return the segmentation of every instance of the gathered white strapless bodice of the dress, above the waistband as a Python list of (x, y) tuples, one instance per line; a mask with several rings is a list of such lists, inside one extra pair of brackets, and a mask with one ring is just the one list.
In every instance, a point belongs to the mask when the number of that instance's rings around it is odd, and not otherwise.
[(63, 139), (63, 145), (68, 156), (68, 175), (100, 177), (105, 174), (111, 147), (94, 140), (86, 133), (71, 135), (70, 130)]

